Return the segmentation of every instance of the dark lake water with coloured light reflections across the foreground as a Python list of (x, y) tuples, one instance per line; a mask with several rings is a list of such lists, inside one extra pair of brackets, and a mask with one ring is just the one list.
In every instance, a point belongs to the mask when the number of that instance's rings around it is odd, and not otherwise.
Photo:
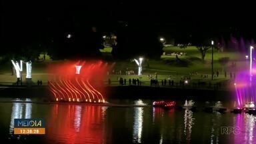
[[(11, 101), (13, 99), (0, 99)], [(146, 107), (0, 103), (0, 133), (7, 143), (256, 143), (256, 117)], [(109, 100), (150, 104), (150, 100)], [(182, 103), (182, 102), (180, 102)], [(203, 105), (201, 103), (201, 105)], [(13, 119), (43, 118), (45, 135), (13, 135)], [(223, 133), (223, 127), (235, 128)]]

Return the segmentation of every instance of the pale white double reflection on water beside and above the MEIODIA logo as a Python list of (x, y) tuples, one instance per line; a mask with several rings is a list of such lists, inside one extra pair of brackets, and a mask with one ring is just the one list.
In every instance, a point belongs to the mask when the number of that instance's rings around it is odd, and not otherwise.
[[(11, 109), (10, 134), (13, 134), (14, 119), (30, 119), (32, 114), (32, 103), (21, 103), (21, 99), (16, 99), (15, 101), (17, 101), (17, 103), (13, 103), (13, 107)], [(31, 99), (25, 99), (24, 102), (30, 101)], [(24, 107), (25, 109), (23, 109)]]

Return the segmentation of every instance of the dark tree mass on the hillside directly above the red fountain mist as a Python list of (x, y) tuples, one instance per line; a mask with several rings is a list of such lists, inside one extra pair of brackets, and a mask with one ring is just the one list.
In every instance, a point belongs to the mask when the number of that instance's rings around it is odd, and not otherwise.
[(54, 43), (49, 46), (48, 53), (52, 59), (95, 59), (100, 57), (99, 49), (103, 49), (101, 33), (91, 30), (74, 31), (71, 37), (67, 33), (57, 35)]

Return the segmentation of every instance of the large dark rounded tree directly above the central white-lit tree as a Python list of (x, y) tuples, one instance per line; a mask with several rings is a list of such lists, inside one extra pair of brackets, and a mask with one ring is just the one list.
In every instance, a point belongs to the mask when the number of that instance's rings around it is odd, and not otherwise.
[(163, 44), (157, 35), (149, 29), (124, 28), (117, 32), (117, 45), (113, 45), (112, 54), (119, 59), (131, 59), (144, 56), (160, 59), (163, 55)]

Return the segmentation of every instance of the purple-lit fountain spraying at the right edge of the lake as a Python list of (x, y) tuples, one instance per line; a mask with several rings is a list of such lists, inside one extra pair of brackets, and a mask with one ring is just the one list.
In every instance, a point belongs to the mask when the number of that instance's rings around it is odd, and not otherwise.
[(253, 47), (250, 47), (249, 70), (241, 71), (235, 79), (236, 102), (233, 112), (241, 113), (245, 110), (247, 113), (256, 113), (255, 111), (255, 65), (253, 63)]

